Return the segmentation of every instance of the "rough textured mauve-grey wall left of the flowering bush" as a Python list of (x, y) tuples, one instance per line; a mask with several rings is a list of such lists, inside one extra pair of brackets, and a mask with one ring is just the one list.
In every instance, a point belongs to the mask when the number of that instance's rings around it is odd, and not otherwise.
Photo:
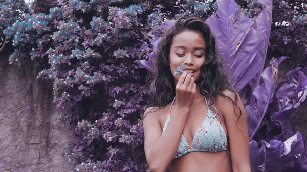
[(74, 165), (61, 156), (72, 129), (52, 124), (61, 114), (52, 103), (52, 83), (36, 81), (32, 65), (9, 65), (0, 55), (0, 171), (72, 172)]

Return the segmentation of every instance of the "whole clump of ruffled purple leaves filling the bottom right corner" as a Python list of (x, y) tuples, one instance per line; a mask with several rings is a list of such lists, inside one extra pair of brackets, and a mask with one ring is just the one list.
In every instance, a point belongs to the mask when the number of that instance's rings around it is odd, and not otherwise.
[[(286, 141), (262, 140), (261, 148), (252, 140), (250, 142), (251, 165), (253, 171), (298, 171), (304, 169), (305, 145), (298, 132)], [(298, 159), (299, 158), (299, 159)]]

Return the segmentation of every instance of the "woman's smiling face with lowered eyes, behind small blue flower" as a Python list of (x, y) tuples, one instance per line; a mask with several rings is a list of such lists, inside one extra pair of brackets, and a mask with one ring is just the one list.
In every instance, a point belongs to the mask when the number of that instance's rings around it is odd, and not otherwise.
[(174, 75), (174, 70), (181, 63), (185, 65), (185, 71), (193, 71), (188, 75), (194, 77), (195, 82), (200, 79), (201, 65), (206, 60), (205, 51), (206, 42), (199, 32), (186, 30), (174, 36), (170, 45), (169, 61), (176, 85), (181, 74)]

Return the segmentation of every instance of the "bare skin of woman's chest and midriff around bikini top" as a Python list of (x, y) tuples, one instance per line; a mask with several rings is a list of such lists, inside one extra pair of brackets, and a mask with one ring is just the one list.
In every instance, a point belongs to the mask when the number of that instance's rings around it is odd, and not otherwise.
[[(159, 110), (159, 122), (161, 130), (165, 125), (165, 121), (168, 116), (168, 111), (170, 109), (170, 102), (164, 109)], [(174, 102), (176, 104), (176, 100)], [(215, 105), (218, 111), (218, 105)], [(183, 130), (183, 135), (189, 146), (192, 145), (192, 141), (196, 131), (199, 129), (199, 126), (202, 124), (204, 119), (207, 116), (208, 108), (206, 106), (205, 99), (200, 99), (195, 101), (191, 106), (191, 110), (188, 114), (185, 127)], [(214, 113), (214, 111), (212, 111)], [(218, 111), (220, 115), (221, 112)], [(214, 113), (215, 114), (215, 113)], [(172, 115), (172, 114), (171, 114)], [(226, 137), (228, 137), (227, 128), (225, 120), (222, 116), (217, 115), (216, 119), (220, 121), (221, 126), (223, 127)], [(222, 118), (221, 118), (222, 117)], [(226, 147), (229, 150), (229, 143)], [(231, 159), (230, 155), (226, 151), (220, 152), (190, 152), (179, 158), (173, 159), (170, 164), (170, 171), (231, 171)]]

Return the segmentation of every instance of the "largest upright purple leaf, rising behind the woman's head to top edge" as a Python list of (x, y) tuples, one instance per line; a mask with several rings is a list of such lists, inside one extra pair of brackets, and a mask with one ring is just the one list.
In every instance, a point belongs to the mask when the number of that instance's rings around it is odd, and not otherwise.
[(216, 37), (232, 85), (240, 91), (261, 68), (252, 61), (264, 39), (252, 28), (254, 22), (237, 11), (238, 5), (233, 0), (218, 1), (217, 5), (217, 12), (205, 22)]

